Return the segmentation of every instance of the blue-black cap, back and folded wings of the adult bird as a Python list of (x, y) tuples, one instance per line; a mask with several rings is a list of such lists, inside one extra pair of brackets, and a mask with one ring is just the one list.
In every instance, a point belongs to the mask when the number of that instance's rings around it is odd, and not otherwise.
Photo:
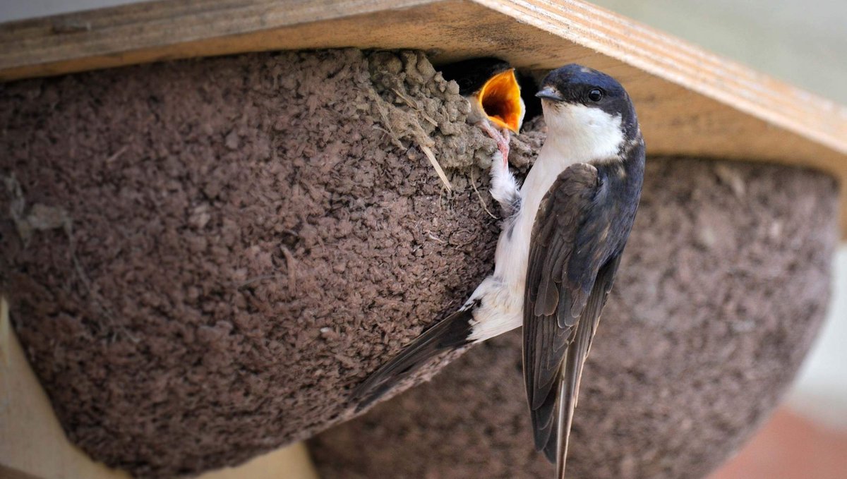
[(553, 107), (599, 108), (620, 117), (623, 131), (617, 155), (578, 162), (559, 174), (540, 203), (530, 242), (524, 382), (535, 447), (564, 477), (583, 365), (633, 226), (645, 146), (632, 102), (612, 77), (568, 65), (549, 74), (542, 88), (540, 96)]

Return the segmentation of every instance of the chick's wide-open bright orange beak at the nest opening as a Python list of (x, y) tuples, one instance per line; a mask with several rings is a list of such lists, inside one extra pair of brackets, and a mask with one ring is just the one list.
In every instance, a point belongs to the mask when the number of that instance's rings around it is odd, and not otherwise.
[(486, 81), (477, 94), (477, 102), (492, 123), (515, 133), (521, 129), (524, 108), (515, 69), (507, 69)]

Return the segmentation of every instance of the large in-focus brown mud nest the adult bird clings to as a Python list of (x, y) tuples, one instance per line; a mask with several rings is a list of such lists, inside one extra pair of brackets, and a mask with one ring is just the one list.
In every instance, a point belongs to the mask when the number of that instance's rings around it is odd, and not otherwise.
[(170, 476), (342, 420), (490, 271), (495, 144), (457, 91), (355, 50), (0, 85), (0, 282), (69, 438)]

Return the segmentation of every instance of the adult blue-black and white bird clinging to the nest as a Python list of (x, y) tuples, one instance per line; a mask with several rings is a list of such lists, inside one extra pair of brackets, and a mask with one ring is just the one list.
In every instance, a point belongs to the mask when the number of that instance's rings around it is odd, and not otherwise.
[(536, 449), (563, 478), (583, 364), (638, 209), (645, 145), (627, 92), (570, 64), (547, 74), (547, 138), (518, 188), (492, 162), (503, 222), (495, 270), (459, 311), (414, 339), (360, 384), (358, 409), (429, 359), (523, 325), (523, 377)]

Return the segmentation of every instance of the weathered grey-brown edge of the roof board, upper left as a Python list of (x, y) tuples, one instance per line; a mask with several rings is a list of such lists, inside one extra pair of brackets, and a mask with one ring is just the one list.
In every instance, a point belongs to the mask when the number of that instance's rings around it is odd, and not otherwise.
[[(0, 24), (0, 81), (242, 52), (213, 42), (433, 0), (160, 0)], [(249, 51), (279, 48), (252, 45)]]

